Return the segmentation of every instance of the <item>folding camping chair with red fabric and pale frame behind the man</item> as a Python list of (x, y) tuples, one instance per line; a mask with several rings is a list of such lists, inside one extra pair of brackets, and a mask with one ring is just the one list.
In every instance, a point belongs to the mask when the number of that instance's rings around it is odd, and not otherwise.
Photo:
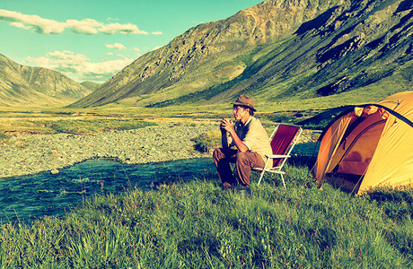
[[(284, 187), (286, 188), (286, 181), (284, 180), (284, 175), (286, 172), (282, 171), (286, 160), (291, 157), (290, 153), (293, 151), (295, 143), (297, 143), (303, 129), (299, 126), (288, 126), (280, 124), (275, 127), (273, 133), (269, 137), (273, 155), (267, 156), (267, 162), (264, 169), (253, 168), (255, 171), (261, 171), (261, 176), (259, 177), (259, 184), (261, 179), (264, 177), (265, 172), (276, 173), (283, 179)], [(268, 168), (268, 162), (272, 161), (273, 165)]]

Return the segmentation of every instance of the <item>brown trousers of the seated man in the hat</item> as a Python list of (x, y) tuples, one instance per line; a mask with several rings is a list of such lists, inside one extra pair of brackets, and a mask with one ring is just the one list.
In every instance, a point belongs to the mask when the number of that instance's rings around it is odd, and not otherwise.
[(240, 184), (245, 187), (250, 187), (250, 170), (265, 166), (257, 152), (239, 152), (233, 149), (219, 148), (215, 149), (213, 157), (219, 178), (223, 184), (227, 182), (232, 186), (237, 185), (237, 179), (233, 176), (230, 162), (235, 163)]

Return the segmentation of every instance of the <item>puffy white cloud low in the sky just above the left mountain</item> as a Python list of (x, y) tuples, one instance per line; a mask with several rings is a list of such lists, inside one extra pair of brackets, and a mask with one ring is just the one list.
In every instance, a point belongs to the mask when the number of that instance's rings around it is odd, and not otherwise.
[(48, 52), (45, 56), (27, 57), (25, 60), (40, 67), (53, 69), (76, 81), (95, 80), (100, 82), (119, 73), (122, 68), (133, 62), (133, 59), (122, 56), (121, 59), (93, 63), (87, 56), (67, 50)]

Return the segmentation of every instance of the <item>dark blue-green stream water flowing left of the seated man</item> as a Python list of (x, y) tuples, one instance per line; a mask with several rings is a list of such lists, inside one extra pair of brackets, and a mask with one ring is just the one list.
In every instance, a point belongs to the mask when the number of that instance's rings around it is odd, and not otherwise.
[(92, 159), (36, 175), (0, 181), (2, 223), (64, 215), (87, 196), (119, 194), (128, 187), (151, 189), (164, 182), (215, 176), (212, 159), (191, 159), (151, 164), (124, 164), (113, 159)]

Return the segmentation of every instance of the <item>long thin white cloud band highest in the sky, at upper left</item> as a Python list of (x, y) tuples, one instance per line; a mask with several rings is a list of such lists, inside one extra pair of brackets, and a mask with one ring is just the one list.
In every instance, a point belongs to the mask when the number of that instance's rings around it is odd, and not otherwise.
[[(54, 20), (44, 19), (38, 15), (26, 15), (13, 11), (0, 9), (0, 21), (11, 22), (10, 25), (25, 30), (33, 30), (41, 34), (60, 34), (66, 29), (72, 30), (75, 33), (85, 35), (95, 35), (104, 33), (108, 35), (113, 34), (148, 34), (145, 30), (139, 30), (136, 25), (132, 23), (121, 24), (102, 23), (93, 19), (67, 20), (66, 22), (57, 22)], [(154, 34), (159, 34), (155, 32)]]

